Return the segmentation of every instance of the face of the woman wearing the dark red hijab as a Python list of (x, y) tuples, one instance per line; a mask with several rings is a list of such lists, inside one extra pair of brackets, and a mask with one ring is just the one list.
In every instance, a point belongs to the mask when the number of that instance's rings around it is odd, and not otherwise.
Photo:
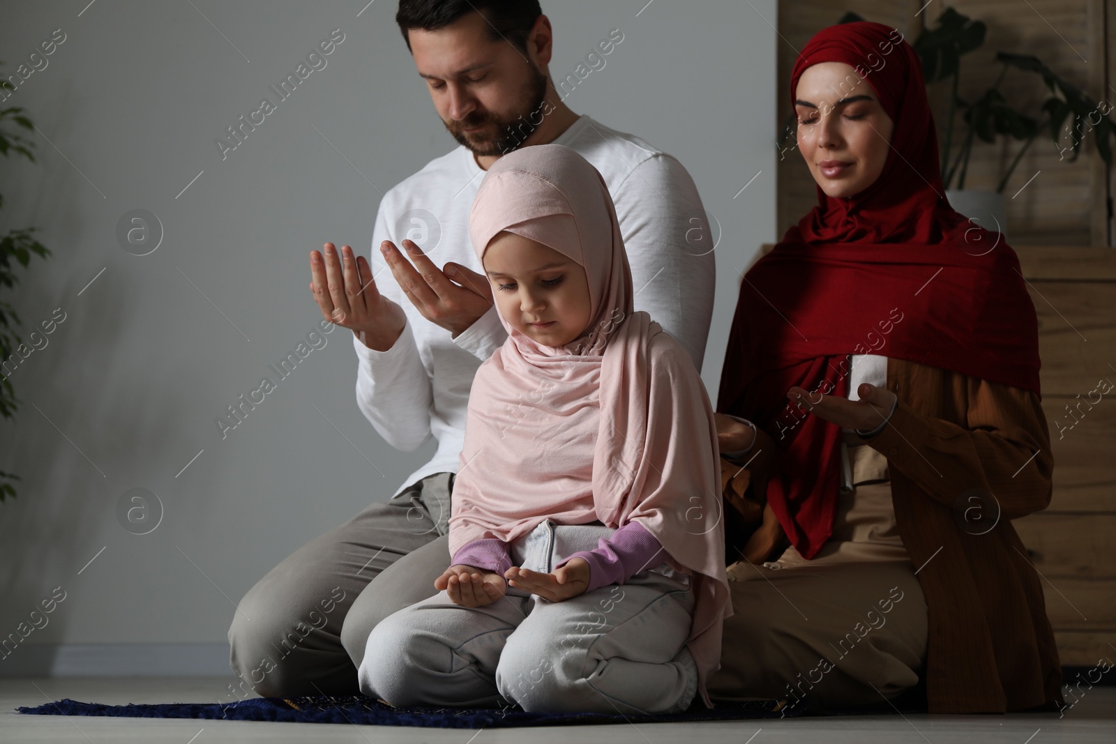
[(798, 148), (827, 196), (847, 199), (879, 177), (894, 123), (852, 66), (807, 67), (795, 90)]

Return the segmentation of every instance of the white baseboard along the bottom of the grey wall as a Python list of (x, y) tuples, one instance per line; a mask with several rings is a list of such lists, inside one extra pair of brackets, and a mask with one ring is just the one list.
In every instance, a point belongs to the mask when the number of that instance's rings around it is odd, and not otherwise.
[(228, 644), (25, 644), (0, 656), (0, 677), (225, 675), (232, 675)]

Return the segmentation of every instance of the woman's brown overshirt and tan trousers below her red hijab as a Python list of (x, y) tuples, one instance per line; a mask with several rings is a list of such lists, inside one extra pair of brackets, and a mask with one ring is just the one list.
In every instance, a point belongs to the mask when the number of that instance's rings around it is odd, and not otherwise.
[[(836, 709), (924, 678), (931, 713), (1061, 705), (1041, 578), (1011, 525), (1050, 502), (1038, 396), (897, 358), (887, 388), (887, 427), (847, 439), (860, 445), (854, 491), (821, 551), (730, 567), (735, 613), (710, 695)], [(773, 453), (759, 432), (748, 470), (761, 492)]]

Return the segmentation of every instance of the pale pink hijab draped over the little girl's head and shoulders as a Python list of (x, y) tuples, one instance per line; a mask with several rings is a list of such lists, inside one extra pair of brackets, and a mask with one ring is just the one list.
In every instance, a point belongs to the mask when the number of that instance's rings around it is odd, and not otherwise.
[(616, 210), (588, 161), (555, 144), (497, 161), (469, 216), (482, 262), (504, 230), (585, 269), (590, 322), (578, 339), (549, 347), (500, 317), (508, 340), (478, 369), (470, 393), (450, 553), (480, 539), (509, 542), (547, 518), (610, 528), (638, 521), (668, 563), (694, 574), (686, 642), (712, 707), (705, 683), (720, 667), (732, 603), (705, 387), (687, 352), (646, 312), (633, 311)]

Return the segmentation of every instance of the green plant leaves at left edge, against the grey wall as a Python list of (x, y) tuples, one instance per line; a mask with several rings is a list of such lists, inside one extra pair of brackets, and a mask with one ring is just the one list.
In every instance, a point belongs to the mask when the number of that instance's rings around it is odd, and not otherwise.
[[(7, 79), (0, 79), (0, 88), (15, 89)], [(3, 125), (8, 122), (15, 123), (25, 129), (35, 128), (31, 120), (23, 116), (22, 108), (11, 106), (0, 109), (0, 154), (8, 157), (9, 151), (15, 151), (33, 163), (35, 155), (31, 154), (29, 147), (35, 147), (35, 143), (4, 127)], [(0, 209), (2, 206), (3, 196), (0, 195)], [(11, 290), (19, 283), (20, 277), (16, 272), (13, 261), (26, 268), (31, 260), (32, 253), (39, 255), (39, 258), (50, 255), (50, 251), (31, 236), (31, 233), (36, 230), (38, 228), (13, 229), (0, 238), (0, 286), (2, 288)], [(18, 354), (19, 347), (23, 345), (17, 334), (19, 326), (20, 319), (19, 315), (16, 313), (16, 309), (9, 302), (0, 300), (0, 365), (7, 361), (13, 354)], [(18, 400), (12, 389), (11, 380), (4, 374), (3, 369), (3, 367), (0, 367), (0, 416), (12, 418), (16, 415)], [(19, 476), (15, 473), (7, 473), (0, 470), (0, 501), (3, 501), (7, 496), (16, 495), (16, 487), (12, 483), (18, 480)]]

